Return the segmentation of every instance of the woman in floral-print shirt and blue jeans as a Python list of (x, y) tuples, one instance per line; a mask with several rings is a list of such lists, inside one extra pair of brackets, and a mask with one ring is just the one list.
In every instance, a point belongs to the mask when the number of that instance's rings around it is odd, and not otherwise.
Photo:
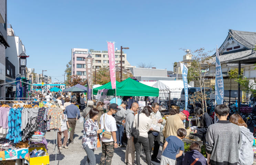
[(86, 165), (96, 165), (94, 150), (97, 149), (98, 133), (102, 133), (102, 129), (99, 129), (97, 122), (98, 115), (99, 110), (92, 108), (89, 112), (89, 119), (84, 123), (82, 144), (87, 154)]

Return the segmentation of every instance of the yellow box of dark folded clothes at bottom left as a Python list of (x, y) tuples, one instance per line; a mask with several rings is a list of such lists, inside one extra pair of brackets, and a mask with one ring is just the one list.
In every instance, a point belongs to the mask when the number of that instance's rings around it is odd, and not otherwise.
[(30, 165), (48, 165), (50, 164), (49, 154), (47, 153), (47, 150), (45, 147), (30, 147), (29, 152), (33, 151), (36, 148), (36, 150), (43, 150), (45, 152), (45, 156), (39, 156), (39, 157), (30, 157), (29, 156), (29, 164)]

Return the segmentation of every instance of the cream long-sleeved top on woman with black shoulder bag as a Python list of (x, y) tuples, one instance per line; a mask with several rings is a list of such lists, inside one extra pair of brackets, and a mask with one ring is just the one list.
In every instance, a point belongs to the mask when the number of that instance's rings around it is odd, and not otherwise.
[[(144, 113), (140, 113), (139, 115), (139, 132), (140, 136), (148, 137), (148, 131), (151, 126), (151, 119), (146, 116)], [(138, 114), (134, 117), (133, 126), (134, 129), (138, 129)]]

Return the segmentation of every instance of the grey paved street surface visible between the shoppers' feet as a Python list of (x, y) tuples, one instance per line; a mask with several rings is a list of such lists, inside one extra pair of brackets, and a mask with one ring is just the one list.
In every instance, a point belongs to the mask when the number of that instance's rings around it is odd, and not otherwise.
[[(86, 152), (83, 150), (83, 147), (82, 147), (82, 136), (83, 136), (82, 130), (83, 130), (83, 123), (79, 123), (79, 120), (78, 120), (75, 128), (74, 144), (69, 144), (68, 149), (63, 148), (60, 151), (58, 150), (58, 148), (56, 148), (57, 150), (56, 165), (85, 164), (87, 156), (86, 156)], [(51, 132), (46, 133), (46, 140), (49, 143), (47, 147), (48, 147), (48, 153), (50, 155), (50, 165), (55, 165), (55, 151), (54, 151), (55, 145), (53, 144), (54, 139), (56, 143), (56, 132), (52, 130)], [(161, 146), (160, 146), (160, 150), (162, 150)], [(100, 156), (102, 154), (101, 148), (98, 148), (94, 153), (96, 156), (96, 163), (99, 164)], [(140, 164), (146, 165), (147, 163), (143, 157), (144, 156), (142, 155)], [(160, 152), (158, 157), (160, 157)], [(124, 161), (125, 161), (125, 147), (116, 148), (114, 157), (112, 159), (112, 164), (125, 165)]]

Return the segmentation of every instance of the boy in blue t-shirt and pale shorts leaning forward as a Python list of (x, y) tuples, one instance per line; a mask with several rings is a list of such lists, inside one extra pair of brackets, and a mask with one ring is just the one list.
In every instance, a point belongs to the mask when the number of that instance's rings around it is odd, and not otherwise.
[(177, 136), (169, 136), (166, 138), (166, 142), (163, 145), (160, 165), (175, 165), (176, 158), (180, 157), (184, 151), (184, 143), (181, 139), (184, 139), (186, 134), (186, 130), (180, 128), (177, 131)]

